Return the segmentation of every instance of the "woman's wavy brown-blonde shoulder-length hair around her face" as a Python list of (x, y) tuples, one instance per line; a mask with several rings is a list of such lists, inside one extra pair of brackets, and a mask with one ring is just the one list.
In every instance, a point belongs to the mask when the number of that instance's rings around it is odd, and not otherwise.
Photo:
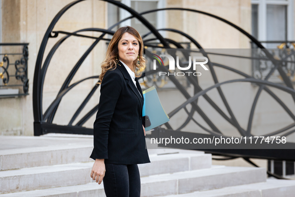
[[(120, 27), (113, 35), (113, 37), (107, 47), (106, 55), (105, 55), (106, 57), (103, 60), (103, 62), (101, 63), (101, 74), (99, 75), (99, 80), (96, 83), (96, 85), (101, 84), (103, 76), (107, 70), (112, 69), (112, 68), (114, 68), (114, 69), (116, 68), (116, 66), (117, 66), (116, 65), (116, 57), (118, 57), (118, 61), (119, 61), (118, 42), (122, 38), (122, 35), (126, 32), (128, 32), (131, 35), (133, 35), (134, 37), (136, 37), (136, 39), (139, 42), (138, 56), (139, 56), (140, 64), (137, 63), (137, 58), (136, 58), (132, 64), (132, 71), (135, 72), (136, 67), (138, 67), (138, 68), (145, 67), (145, 58), (143, 57), (144, 46), (143, 46), (143, 41), (142, 41), (142, 38), (141, 38), (139, 32), (131, 26)], [(139, 77), (139, 76), (141, 76), (141, 73), (137, 75), (135, 72), (135, 76)]]

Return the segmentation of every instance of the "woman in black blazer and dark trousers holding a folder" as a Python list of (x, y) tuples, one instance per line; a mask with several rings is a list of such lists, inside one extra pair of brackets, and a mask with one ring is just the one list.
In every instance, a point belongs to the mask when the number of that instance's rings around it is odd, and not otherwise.
[[(91, 178), (106, 196), (140, 196), (138, 163), (150, 162), (142, 125), (143, 94), (135, 68), (143, 67), (143, 41), (130, 26), (113, 35), (101, 64), (100, 99), (93, 124)], [(138, 77), (138, 76), (137, 76)]]

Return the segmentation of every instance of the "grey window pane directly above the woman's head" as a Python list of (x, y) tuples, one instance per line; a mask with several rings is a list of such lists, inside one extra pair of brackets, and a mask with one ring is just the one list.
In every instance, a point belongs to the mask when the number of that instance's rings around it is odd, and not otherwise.
[[(143, 12), (151, 9), (157, 8), (157, 1), (131, 1), (131, 7), (135, 9), (137, 12)], [(154, 27), (157, 27), (157, 14), (156, 12), (144, 14), (143, 17), (147, 19)], [(140, 35), (143, 35), (149, 30), (139, 21), (137, 18), (131, 19), (131, 26), (134, 27)], [(146, 38), (154, 37), (152, 34)]]

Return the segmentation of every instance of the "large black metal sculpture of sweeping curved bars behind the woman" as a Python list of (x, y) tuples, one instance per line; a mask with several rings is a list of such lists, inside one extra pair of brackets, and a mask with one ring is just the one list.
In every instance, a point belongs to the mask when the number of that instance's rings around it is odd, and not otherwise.
[[(94, 94), (95, 90), (97, 89), (97, 86), (95, 85), (90, 92), (88, 93), (88, 95), (85, 97), (84, 101), (80, 104), (80, 106), (78, 107), (78, 109), (76, 110), (76, 112), (73, 114), (71, 120), (67, 123), (67, 125), (57, 125), (57, 124), (52, 124), (52, 120), (54, 118), (55, 112), (57, 110), (57, 107), (60, 103), (60, 100), (62, 99), (62, 97), (70, 90), (72, 89), (75, 85), (79, 84), (80, 82), (87, 80), (87, 79), (91, 79), (91, 78), (98, 78), (98, 76), (91, 76), (91, 77), (87, 77), (84, 79), (81, 79), (71, 85), (70, 82), (73, 78), (73, 76), (75, 75), (76, 71), (78, 70), (78, 68), (80, 67), (80, 65), (82, 64), (82, 62), (85, 60), (85, 58), (87, 57), (87, 55), (91, 52), (91, 50), (94, 48), (94, 46), (100, 41), (100, 40), (109, 40), (109, 39), (105, 39), (103, 38), (103, 36), (105, 34), (113, 34), (114, 31), (112, 31), (111, 29), (114, 28), (115, 26), (117, 26), (118, 24), (120, 24), (121, 22), (130, 19), (132, 17), (136, 17), (138, 20), (140, 20), (149, 30), (150, 32), (147, 33), (146, 35), (143, 35), (143, 39), (148, 35), (148, 34), (153, 34), (155, 36), (155, 38), (153, 39), (144, 39), (144, 44), (145, 46), (151, 46), (151, 47), (162, 47), (162, 48), (170, 48), (170, 44), (173, 44), (174, 46), (176, 46), (177, 48), (182, 48), (182, 45), (178, 42), (176, 42), (175, 40), (169, 39), (169, 38), (164, 38), (159, 31), (161, 30), (165, 30), (165, 31), (173, 31), (176, 33), (179, 33), (183, 36), (185, 36), (186, 38), (188, 38), (192, 43), (194, 43), (198, 48), (199, 48), (199, 52), (201, 52), (205, 57), (207, 57), (209, 59), (207, 65), (209, 66), (210, 72), (212, 74), (213, 80), (215, 85), (207, 88), (207, 89), (202, 89), (201, 86), (199, 85), (198, 79), (197, 77), (192, 77), (192, 76), (187, 76), (188, 81), (194, 85), (194, 93), (195, 95), (193, 97), (190, 96), (190, 94), (186, 91), (186, 89), (183, 87), (182, 84), (180, 84), (180, 82), (175, 78), (175, 77), (169, 77), (169, 79), (174, 83), (174, 85), (178, 88), (178, 90), (185, 96), (185, 98), (187, 99), (187, 101), (181, 105), (179, 105), (178, 107), (176, 107), (172, 112), (170, 112), (168, 115), (171, 117), (174, 114), (176, 114), (179, 110), (181, 109), (185, 109), (185, 111), (188, 114), (188, 117), (186, 119), (186, 121), (180, 125), (177, 129), (173, 130), (172, 127), (169, 125), (169, 123), (166, 123), (165, 126), (167, 127), (167, 129), (164, 128), (158, 128), (155, 131), (153, 131), (153, 133), (151, 135), (148, 135), (148, 137), (151, 136), (155, 136), (158, 135), (159, 130), (166, 130), (166, 131), (180, 131), (185, 125), (187, 125), (187, 123), (189, 121), (194, 121), (196, 124), (198, 124), (200, 127), (202, 127), (204, 130), (206, 130), (208, 133), (212, 134), (212, 135), (225, 135), (223, 133), (223, 131), (218, 129), (218, 126), (215, 125), (208, 116), (206, 116), (206, 114), (204, 113), (204, 111), (202, 111), (202, 109), (198, 106), (198, 97), (199, 96), (203, 96), (214, 108), (217, 112), (220, 113), (220, 115), (222, 117), (225, 118), (225, 120), (227, 120), (230, 124), (232, 124), (233, 126), (235, 126), (237, 128), (237, 130), (239, 131), (239, 133), (242, 136), (251, 136), (251, 128), (252, 128), (252, 122), (253, 122), (253, 117), (254, 117), (254, 112), (255, 112), (255, 108), (257, 105), (257, 101), (258, 98), (262, 92), (262, 90), (265, 90), (266, 92), (268, 92), (275, 100), (277, 100), (277, 102), (286, 110), (286, 112), (292, 117), (292, 119), (294, 119), (295, 121), (295, 115), (293, 114), (293, 112), (287, 107), (287, 105), (275, 94), (272, 92), (272, 90), (268, 87), (268, 86), (272, 86), (272, 87), (276, 87), (279, 88), (285, 92), (288, 92), (292, 95), (294, 101), (295, 101), (295, 90), (292, 84), (292, 81), (290, 80), (290, 77), (287, 76), (286, 74), (286, 70), (284, 70), (284, 64), (288, 61), (286, 60), (289, 56), (285, 56), (284, 59), (278, 60), (276, 58), (274, 58), (273, 54), (267, 50), (262, 44), (261, 42), (259, 42), (255, 37), (253, 37), (251, 34), (249, 34), (248, 32), (246, 32), (244, 29), (240, 28), (239, 26), (231, 23), (230, 21), (223, 19), (219, 16), (207, 13), (207, 12), (203, 12), (203, 11), (199, 11), (199, 10), (195, 10), (195, 9), (187, 9), (187, 8), (162, 8), (162, 9), (154, 9), (154, 10), (149, 10), (146, 12), (142, 12), (142, 13), (138, 13), (135, 10), (133, 10), (132, 8), (118, 2), (115, 0), (104, 0), (107, 1), (109, 3), (112, 3), (114, 5), (117, 5), (120, 8), (123, 8), (125, 10), (127, 10), (128, 12), (131, 13), (132, 16), (127, 17), (121, 21), (119, 21), (118, 23), (112, 25), (111, 27), (109, 27), (108, 29), (101, 29), (101, 28), (85, 28), (85, 29), (80, 29), (77, 30), (75, 32), (66, 32), (66, 31), (53, 31), (52, 29), (54, 27), (54, 25), (56, 24), (56, 22), (59, 20), (59, 18), (62, 16), (62, 14), (64, 12), (66, 12), (70, 7), (72, 7), (73, 5), (84, 1), (84, 0), (76, 0), (73, 1), (71, 3), (69, 3), (68, 5), (66, 5), (64, 8), (62, 8), (58, 14), (54, 17), (54, 19), (52, 20), (52, 22), (50, 23), (48, 29), (45, 32), (45, 35), (43, 37), (43, 40), (41, 42), (41, 46), (38, 52), (38, 56), (37, 56), (37, 60), (36, 60), (36, 66), (35, 66), (35, 72), (34, 72), (34, 82), (33, 82), (33, 113), (34, 113), (34, 135), (41, 135), (41, 134), (45, 134), (48, 132), (60, 132), (60, 133), (77, 133), (77, 134), (93, 134), (93, 130), (92, 128), (86, 128), (83, 127), (83, 123), (85, 123), (87, 121), (87, 119), (89, 119), (89, 117), (91, 117), (97, 110), (98, 105), (94, 106), (88, 113), (86, 113), (75, 125), (72, 125), (72, 123), (74, 122), (74, 120), (77, 118), (78, 114), (81, 112), (81, 110), (84, 108), (85, 104), (88, 102), (88, 100), (90, 99), (90, 97)], [(253, 76), (250, 76), (242, 71), (239, 71), (237, 69), (234, 69), (232, 67), (220, 64), (220, 63), (216, 63), (216, 62), (212, 62), (210, 61), (210, 58), (208, 57), (208, 52), (206, 52), (202, 46), (200, 45), (199, 42), (197, 42), (193, 37), (191, 37), (190, 35), (186, 34), (185, 32), (176, 30), (176, 29), (172, 29), (172, 28), (164, 28), (164, 29), (155, 29), (142, 15), (147, 14), (147, 13), (151, 13), (151, 12), (157, 12), (157, 11), (161, 11), (161, 10), (183, 10), (183, 11), (191, 11), (191, 12), (197, 12), (200, 14), (205, 14), (211, 17), (214, 17), (218, 20), (221, 20), (229, 25), (231, 25), (232, 27), (234, 27), (235, 29), (239, 30), (241, 33), (243, 33), (244, 35), (246, 35), (253, 43), (255, 43), (259, 48), (261, 48), (261, 51), (265, 54), (265, 57), (260, 57), (260, 58), (266, 58), (268, 59), (270, 62), (272, 62), (272, 64), (274, 65), (271, 70), (268, 72), (268, 74), (263, 78), (263, 79), (258, 79), (258, 78), (254, 78)], [(99, 37), (93, 37), (93, 36), (87, 36), (87, 35), (81, 35), (78, 34), (79, 32), (84, 32), (84, 31), (97, 31), (97, 32), (102, 32), (102, 34)], [(52, 34), (53, 33), (53, 34)], [(50, 52), (48, 53), (43, 65), (42, 65), (42, 59), (43, 59), (43, 55), (44, 55), (44, 50), (47, 44), (47, 41), (49, 38), (51, 37), (57, 37), (57, 35), (59, 33), (63, 33), (66, 34), (66, 36), (64, 36), (63, 38), (61, 38), (60, 40), (58, 40), (56, 42), (56, 44), (52, 47), (52, 49), (50, 50)], [(43, 90), (43, 83), (44, 83), (44, 77), (49, 65), (49, 62), (52, 58), (52, 55), (54, 54), (54, 52), (56, 51), (56, 49), (62, 44), (62, 42), (64, 40), (66, 40), (68, 37), (70, 36), (82, 36), (82, 37), (87, 37), (87, 38), (91, 38), (94, 39), (95, 41), (91, 44), (91, 46), (85, 51), (85, 53), (81, 56), (81, 58), (78, 60), (78, 62), (73, 66), (72, 70), (70, 71), (69, 75), (67, 76), (66, 80), (64, 81), (64, 83), (62, 84), (62, 86), (60, 87), (60, 90), (56, 96), (56, 98), (53, 100), (53, 102), (50, 104), (50, 106), (46, 109), (46, 111), (43, 113), (42, 111), (42, 90)], [(162, 45), (155, 45), (153, 44), (151, 41), (159, 41), (159, 43), (161, 43)], [(152, 58), (151, 53), (148, 50), (145, 50), (145, 54), (147, 56), (147, 58)], [(184, 54), (185, 56), (188, 56), (188, 54)], [(241, 57), (241, 58), (245, 58), (245, 57)], [(294, 61), (291, 61), (293, 63), (295, 63)], [(184, 63), (184, 62), (182, 62)], [(235, 73), (240, 74), (241, 76), (245, 77), (244, 79), (235, 79), (235, 80), (229, 80), (229, 81), (224, 81), (224, 82), (219, 82), (217, 79), (217, 75), (215, 72), (214, 67), (221, 67), (230, 71), (233, 71)], [(169, 70), (167, 69), (166, 66), (164, 65), (158, 65), (158, 69), (157, 70), (150, 70), (150, 71), (146, 71), (145, 73), (143, 73), (143, 75), (141, 77), (144, 76), (148, 76), (148, 75), (152, 75), (158, 71), (165, 71), (165, 72), (169, 72)], [(278, 70), (284, 83), (286, 84), (286, 86), (281, 85), (281, 84), (276, 84), (276, 83), (272, 83), (270, 81), (268, 81), (269, 77), (272, 75), (272, 73)], [(248, 126), (247, 129), (244, 129), (241, 127), (241, 125), (239, 124), (238, 120), (236, 119), (222, 89), (221, 89), (221, 85), (226, 84), (226, 83), (232, 83), (232, 82), (251, 82), (251, 83), (255, 83), (257, 85), (259, 85), (259, 90), (255, 96), (255, 99), (253, 101), (252, 104), (252, 108), (251, 108), (251, 112), (250, 112), (250, 116), (249, 116), (249, 120), (248, 120)], [(229, 116), (221, 109), (218, 107), (218, 105), (206, 94), (207, 91), (209, 91), (212, 88), (217, 88), (219, 95), (222, 98), (223, 103), (226, 106), (227, 111), (229, 112)], [(178, 103), (179, 104), (179, 103)], [(188, 111), (186, 108), (187, 104), (191, 104), (192, 105), (192, 109), (191, 111)], [(193, 114), (195, 112), (198, 112), (202, 118), (206, 121), (206, 123), (210, 126), (210, 129), (205, 128), (204, 126), (202, 126), (200, 123), (198, 123), (194, 118), (193, 118)], [(274, 134), (280, 134), (292, 127), (295, 127), (295, 123), (280, 129), (278, 131), (269, 133), (269, 135), (274, 135)], [(185, 131), (181, 131), (181, 132), (185, 132)], [(295, 132), (295, 129), (292, 131), (289, 131), (288, 133), (285, 133), (284, 136), (287, 136), (289, 134), (292, 134), (293, 132)], [(195, 133), (196, 135), (198, 133)], [(239, 149), (235, 149), (235, 150), (227, 150), (227, 149), (220, 149), (220, 150), (207, 150), (209, 152), (213, 152), (215, 154), (223, 154), (223, 155), (230, 155), (230, 156), (248, 156), (248, 157), (259, 157), (259, 158), (268, 158), (268, 159), (289, 159), (289, 160), (295, 160), (295, 151), (294, 149), (289, 149), (289, 150), (284, 150), (284, 151), (280, 151), (280, 150), (239, 150)]]

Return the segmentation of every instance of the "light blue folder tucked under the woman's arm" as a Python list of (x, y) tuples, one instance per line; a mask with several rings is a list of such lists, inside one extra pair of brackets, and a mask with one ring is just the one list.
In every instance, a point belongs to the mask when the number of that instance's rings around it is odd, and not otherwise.
[(169, 116), (165, 112), (159, 99), (155, 86), (152, 86), (142, 92), (144, 97), (142, 116), (148, 115), (151, 125), (145, 127), (145, 130), (153, 129), (169, 121)]

